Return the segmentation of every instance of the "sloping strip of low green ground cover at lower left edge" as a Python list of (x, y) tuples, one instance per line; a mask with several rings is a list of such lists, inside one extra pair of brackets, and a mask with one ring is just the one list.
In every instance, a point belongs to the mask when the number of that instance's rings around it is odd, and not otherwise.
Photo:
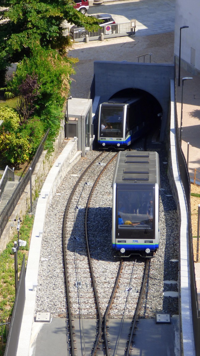
[[(21, 265), (23, 261), (23, 255), (25, 255), (25, 264), (28, 259), (28, 250), (30, 246), (31, 232), (34, 222), (34, 215), (26, 214), (23, 217), (23, 221), (20, 225), (20, 239), (27, 242), (25, 247), (20, 247), (17, 252), (18, 260), (18, 278), (21, 271)], [(12, 247), (14, 246), (14, 241), (17, 240), (17, 229), (16, 234), (12, 241), (7, 244), (6, 249), (0, 255), (0, 319), (3, 322), (10, 321), (12, 316), (12, 311), (15, 303), (15, 263), (14, 263), (14, 253), (12, 253)], [(5, 340), (6, 340), (6, 328), (3, 328), (4, 335), (4, 350), (5, 350)], [(1, 340), (2, 340), (2, 330), (0, 329), (0, 355), (1, 355)]]

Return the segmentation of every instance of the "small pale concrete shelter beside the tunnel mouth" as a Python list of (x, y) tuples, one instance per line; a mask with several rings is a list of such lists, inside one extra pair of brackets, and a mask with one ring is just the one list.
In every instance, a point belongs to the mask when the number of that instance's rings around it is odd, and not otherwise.
[(78, 150), (82, 157), (92, 150), (94, 141), (92, 124), (92, 100), (72, 98), (67, 100), (65, 113), (65, 137), (78, 137)]

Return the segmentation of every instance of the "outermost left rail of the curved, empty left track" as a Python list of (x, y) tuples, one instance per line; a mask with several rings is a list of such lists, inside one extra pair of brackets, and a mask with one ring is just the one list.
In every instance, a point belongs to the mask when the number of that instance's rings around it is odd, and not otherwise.
[[(65, 255), (65, 223), (66, 223), (66, 218), (67, 218), (67, 213), (69, 210), (69, 205), (72, 201), (73, 195), (75, 193), (75, 190), (77, 188), (77, 185), (80, 183), (81, 179), (85, 175), (85, 173), (88, 171), (88, 169), (94, 164), (94, 162), (104, 153), (102, 151), (100, 155), (98, 155), (90, 164), (89, 166), (84, 170), (84, 172), (81, 174), (79, 179), (74, 185), (74, 188), (72, 190), (72, 193), (70, 194), (70, 197), (68, 199), (66, 209), (65, 209), (65, 214), (64, 214), (64, 219), (63, 219), (63, 258), (64, 258), (64, 269), (65, 269), (65, 283), (66, 283), (66, 292), (67, 292), (67, 301), (68, 301), (68, 317), (66, 318), (66, 321), (69, 322), (69, 328), (70, 328), (70, 345), (69, 345), (69, 354), (71, 356), (74, 356), (74, 347), (73, 347), (73, 327), (72, 327), (72, 316), (71, 316), (71, 308), (70, 308), (70, 299), (69, 299), (69, 283), (68, 283), (68, 276), (67, 276), (67, 260), (66, 260), (66, 255)], [(71, 349), (71, 353), (70, 353)]]

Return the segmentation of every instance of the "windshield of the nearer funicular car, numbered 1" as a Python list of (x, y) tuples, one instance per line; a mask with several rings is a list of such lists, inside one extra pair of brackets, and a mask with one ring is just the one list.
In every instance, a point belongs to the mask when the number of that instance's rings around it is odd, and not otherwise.
[(147, 190), (118, 189), (118, 229), (152, 230), (154, 218), (153, 188)]

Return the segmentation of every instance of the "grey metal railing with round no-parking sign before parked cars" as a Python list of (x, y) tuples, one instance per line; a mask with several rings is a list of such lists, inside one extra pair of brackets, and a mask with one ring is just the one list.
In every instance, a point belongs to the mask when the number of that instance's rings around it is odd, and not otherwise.
[(88, 31), (84, 27), (73, 28), (70, 30), (70, 37), (75, 42), (84, 42), (86, 35), (89, 37), (89, 41), (100, 40), (101, 33), (105, 38), (121, 37), (135, 35), (135, 27), (131, 27), (130, 22), (114, 23), (113, 25), (102, 26), (98, 31)]

